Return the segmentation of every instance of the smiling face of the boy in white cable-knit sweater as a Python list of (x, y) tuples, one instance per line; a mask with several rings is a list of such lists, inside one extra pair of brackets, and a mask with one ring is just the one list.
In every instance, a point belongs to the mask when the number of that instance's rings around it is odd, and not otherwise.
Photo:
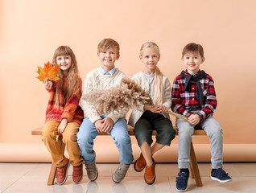
[(105, 71), (114, 68), (114, 63), (119, 58), (116, 47), (109, 47), (105, 51), (97, 53), (97, 56), (101, 60), (101, 66)]

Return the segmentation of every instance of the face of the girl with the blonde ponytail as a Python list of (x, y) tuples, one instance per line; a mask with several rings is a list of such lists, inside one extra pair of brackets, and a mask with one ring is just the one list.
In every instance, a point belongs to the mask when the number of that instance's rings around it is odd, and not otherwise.
[(139, 58), (146, 67), (146, 73), (151, 74), (155, 72), (160, 55), (154, 47), (148, 47), (142, 50), (142, 55), (139, 55)]

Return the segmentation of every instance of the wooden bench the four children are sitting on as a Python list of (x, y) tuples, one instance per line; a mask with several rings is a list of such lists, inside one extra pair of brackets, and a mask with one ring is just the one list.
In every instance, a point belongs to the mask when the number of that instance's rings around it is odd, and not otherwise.
[[(133, 127), (128, 125), (128, 132), (130, 135), (134, 135), (133, 129), (134, 129)], [(177, 129), (176, 128), (174, 128), (174, 129), (176, 131), (176, 134), (178, 135)], [(31, 134), (32, 135), (42, 135), (42, 131), (43, 131), (43, 126), (33, 129), (31, 131)], [(156, 135), (156, 131), (154, 130), (152, 134)], [(109, 135), (109, 134), (103, 133), (101, 135)], [(206, 133), (204, 132), (203, 129), (195, 129), (195, 132), (193, 135), (206, 135)], [(57, 141), (60, 146), (60, 149), (64, 153), (65, 144), (62, 142), (62, 135), (58, 136)], [(191, 148), (190, 148), (190, 170), (192, 173), (192, 178), (196, 180), (196, 186), (202, 187), (203, 183), (202, 183), (202, 180), (200, 177), (200, 172), (199, 172), (197, 161), (196, 161), (196, 154), (195, 154), (195, 150), (194, 150), (194, 146), (193, 146), (192, 142), (191, 142)], [(56, 165), (54, 163), (52, 163), (50, 174), (49, 174), (48, 181), (47, 181), (47, 185), (53, 185), (55, 177), (56, 177)]]

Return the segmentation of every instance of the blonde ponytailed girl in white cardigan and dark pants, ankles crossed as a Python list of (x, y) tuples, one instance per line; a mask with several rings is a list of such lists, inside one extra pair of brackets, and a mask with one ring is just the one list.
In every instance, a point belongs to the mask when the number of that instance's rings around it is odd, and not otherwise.
[[(134, 170), (139, 172), (146, 167), (145, 182), (153, 184), (155, 161), (152, 156), (163, 146), (170, 146), (171, 140), (175, 138), (175, 130), (167, 113), (171, 107), (171, 85), (157, 67), (160, 53), (156, 43), (144, 43), (139, 58), (145, 69), (135, 74), (132, 79), (149, 92), (155, 106), (142, 105), (134, 109), (130, 115), (129, 125), (134, 126), (134, 134), (142, 151), (134, 163)], [(157, 131), (156, 142), (151, 146), (154, 129)]]

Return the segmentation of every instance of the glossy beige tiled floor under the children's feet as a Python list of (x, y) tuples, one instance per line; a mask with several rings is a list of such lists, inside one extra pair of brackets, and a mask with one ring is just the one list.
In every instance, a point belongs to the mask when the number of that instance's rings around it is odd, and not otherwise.
[[(99, 177), (95, 182), (84, 179), (76, 185), (72, 183), (72, 166), (68, 170), (68, 179), (63, 186), (47, 186), (50, 170), (48, 163), (0, 163), (1, 193), (155, 193), (175, 191), (177, 164), (157, 164), (156, 181), (149, 186), (144, 182), (144, 172), (134, 171), (133, 164), (122, 183), (114, 183), (111, 175), (118, 164), (97, 164)], [(217, 192), (256, 192), (256, 163), (225, 163), (224, 169), (233, 178), (229, 183), (218, 183), (210, 179), (211, 166), (200, 163), (199, 170), (203, 187), (196, 187), (194, 179), (189, 179), (188, 191), (196, 193)]]

